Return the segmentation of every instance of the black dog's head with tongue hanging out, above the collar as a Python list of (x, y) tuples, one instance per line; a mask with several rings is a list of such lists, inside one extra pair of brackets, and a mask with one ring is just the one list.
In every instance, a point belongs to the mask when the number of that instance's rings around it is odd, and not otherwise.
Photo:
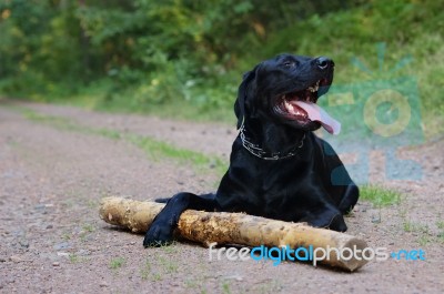
[(244, 74), (234, 112), (238, 129), (244, 119), (284, 123), (303, 131), (321, 125), (339, 133), (341, 124), (317, 104), (333, 81), (334, 62), (327, 58), (280, 54)]

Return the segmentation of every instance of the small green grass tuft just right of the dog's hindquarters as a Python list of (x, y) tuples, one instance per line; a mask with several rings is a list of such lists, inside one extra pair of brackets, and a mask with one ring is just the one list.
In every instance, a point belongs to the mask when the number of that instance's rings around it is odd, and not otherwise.
[(364, 185), (361, 187), (360, 200), (369, 201), (376, 207), (384, 207), (400, 204), (401, 193), (377, 185)]

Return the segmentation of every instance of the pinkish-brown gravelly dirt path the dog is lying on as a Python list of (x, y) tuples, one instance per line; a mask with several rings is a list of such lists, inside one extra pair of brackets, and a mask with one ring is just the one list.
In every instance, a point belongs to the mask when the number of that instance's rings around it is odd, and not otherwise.
[(226, 159), (234, 128), (0, 102), (1, 293), (443, 293), (444, 141), (401, 151), (423, 165), (422, 181), (386, 182), (383, 156), (371, 154), (371, 180), (402, 192), (401, 203), (361, 202), (349, 233), (372, 247), (425, 251), (425, 261), (389, 258), (349, 274), (310, 264), (209, 261), (206, 249), (142, 247), (142, 236), (98, 216), (104, 195), (145, 200), (178, 191), (208, 192), (218, 175), (186, 163), (148, 158), (124, 140), (56, 128), (23, 115), (62, 116)]

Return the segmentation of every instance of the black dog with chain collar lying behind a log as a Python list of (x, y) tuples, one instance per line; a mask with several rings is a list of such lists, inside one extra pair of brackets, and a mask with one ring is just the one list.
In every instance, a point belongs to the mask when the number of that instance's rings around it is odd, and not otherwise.
[(171, 197), (143, 245), (172, 241), (188, 209), (245, 212), (346, 231), (343, 214), (356, 204), (359, 189), (330, 144), (312, 133), (321, 125), (330, 133), (340, 131), (316, 104), (333, 71), (327, 58), (281, 54), (248, 72), (234, 104), (240, 134), (218, 192)]

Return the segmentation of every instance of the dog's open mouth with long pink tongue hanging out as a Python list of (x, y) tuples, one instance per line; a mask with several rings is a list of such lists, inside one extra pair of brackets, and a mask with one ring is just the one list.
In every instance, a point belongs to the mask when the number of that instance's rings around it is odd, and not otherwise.
[(330, 84), (327, 79), (321, 79), (306, 89), (282, 94), (279, 97), (276, 111), (300, 124), (319, 122), (329, 133), (337, 134), (341, 123), (316, 104), (319, 97), (326, 93)]

